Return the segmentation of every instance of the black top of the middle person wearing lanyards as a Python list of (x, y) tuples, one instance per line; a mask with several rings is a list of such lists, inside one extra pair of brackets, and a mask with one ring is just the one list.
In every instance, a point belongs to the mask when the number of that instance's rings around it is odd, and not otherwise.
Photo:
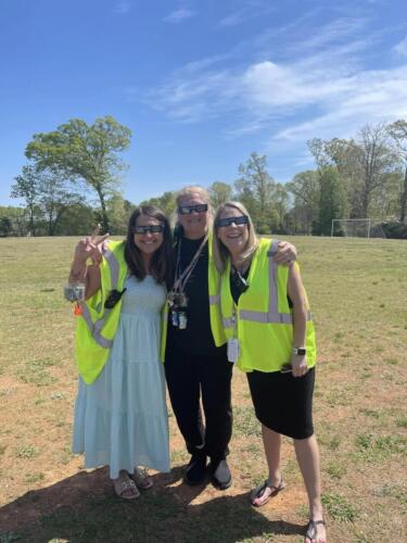
[[(180, 273), (193, 258), (203, 238), (198, 240), (181, 239)], [(175, 260), (178, 255), (178, 243), (175, 247)], [(225, 346), (217, 348), (211, 330), (209, 290), (208, 290), (208, 251), (207, 243), (203, 247), (200, 257), (185, 288), (188, 298), (187, 328), (179, 329), (168, 318), (167, 349), (176, 348), (189, 354), (219, 356)]]

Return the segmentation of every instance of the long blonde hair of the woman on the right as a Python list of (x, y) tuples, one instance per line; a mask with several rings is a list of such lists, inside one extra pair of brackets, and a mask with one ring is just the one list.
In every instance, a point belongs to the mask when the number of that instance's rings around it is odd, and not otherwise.
[(256, 249), (258, 247), (258, 239), (257, 239), (256, 232), (254, 230), (253, 220), (252, 220), (252, 217), (249, 215), (249, 212), (245, 209), (245, 206), (240, 202), (225, 202), (224, 204), (219, 205), (219, 207), (216, 210), (216, 214), (215, 214), (215, 218), (214, 218), (214, 236), (212, 239), (212, 250), (213, 250), (215, 266), (220, 274), (222, 274), (225, 272), (226, 261), (227, 261), (230, 253), (217, 236), (216, 222), (218, 218), (220, 218), (220, 215), (228, 207), (240, 211), (240, 213), (242, 215), (246, 215), (247, 219), (249, 219), (249, 223), (247, 223), (249, 239), (247, 239), (246, 247), (244, 248), (244, 251), (242, 254), (243, 261), (249, 261), (250, 258), (252, 258), (253, 253), (256, 251)]

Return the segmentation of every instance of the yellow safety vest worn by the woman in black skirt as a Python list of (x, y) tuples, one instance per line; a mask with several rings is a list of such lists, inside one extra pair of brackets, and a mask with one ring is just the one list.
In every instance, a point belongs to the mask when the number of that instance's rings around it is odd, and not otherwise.
[[(249, 289), (240, 295), (238, 306), (230, 292), (230, 260), (221, 277), (224, 329), (227, 339), (239, 340), (237, 365), (243, 371), (279, 371), (291, 361), (294, 345), (292, 311), (287, 299), (289, 268), (272, 260), (278, 243), (279, 240), (259, 241), (249, 272)], [(305, 343), (310, 368), (316, 363), (316, 343), (309, 307)]]

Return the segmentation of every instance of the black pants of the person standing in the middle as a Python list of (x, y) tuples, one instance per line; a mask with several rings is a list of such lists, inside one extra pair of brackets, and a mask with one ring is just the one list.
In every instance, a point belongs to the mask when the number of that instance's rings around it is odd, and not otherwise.
[(219, 356), (196, 356), (168, 345), (164, 364), (173, 411), (189, 453), (202, 452), (214, 462), (229, 454), (232, 434), (232, 364), (219, 351)]

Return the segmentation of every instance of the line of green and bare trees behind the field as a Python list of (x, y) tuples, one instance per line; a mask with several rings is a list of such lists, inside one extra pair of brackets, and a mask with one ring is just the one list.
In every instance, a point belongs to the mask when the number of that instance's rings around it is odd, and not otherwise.
[[(130, 140), (130, 129), (112, 116), (91, 125), (71, 119), (35, 134), (11, 192), (24, 206), (0, 207), (0, 235), (76, 236), (96, 223), (112, 235), (125, 233), (136, 206), (120, 193), (127, 168), (120, 153)], [(244, 203), (259, 233), (330, 235), (332, 219), (371, 217), (407, 238), (406, 121), (366, 125), (351, 139), (314, 138), (307, 147), (315, 168), (285, 184), (272, 178), (266, 155), (253, 152), (234, 182), (208, 187), (213, 205)], [(171, 214), (175, 198), (176, 191), (167, 191), (138, 204)]]

